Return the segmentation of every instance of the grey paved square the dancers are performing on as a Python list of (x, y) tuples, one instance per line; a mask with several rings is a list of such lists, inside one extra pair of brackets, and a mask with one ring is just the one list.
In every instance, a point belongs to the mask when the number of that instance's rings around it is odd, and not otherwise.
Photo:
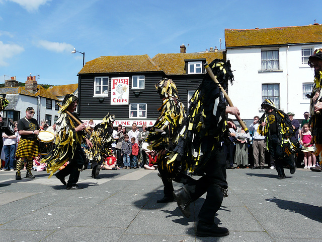
[(190, 205), (189, 219), (176, 203), (156, 203), (163, 197), (157, 171), (104, 170), (94, 179), (85, 170), (82, 190), (33, 173), (17, 181), (15, 172), (0, 172), (0, 241), (322, 241), (322, 172), (285, 170), (278, 180), (267, 167), (227, 170), (229, 197), (215, 222), (230, 234), (218, 238), (196, 236), (205, 195)]

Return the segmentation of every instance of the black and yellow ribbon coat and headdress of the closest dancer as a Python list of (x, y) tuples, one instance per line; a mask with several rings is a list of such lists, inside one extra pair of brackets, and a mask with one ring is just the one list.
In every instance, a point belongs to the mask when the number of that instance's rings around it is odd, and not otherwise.
[[(215, 59), (209, 67), (225, 89), (233, 82), (229, 61)], [(168, 166), (198, 173), (208, 161), (216, 144), (227, 138), (226, 103), (218, 85), (208, 74), (190, 100), (184, 124), (177, 133), (178, 143), (169, 156)], [(180, 163), (177, 164), (176, 163)], [(173, 164), (175, 163), (175, 164)]]

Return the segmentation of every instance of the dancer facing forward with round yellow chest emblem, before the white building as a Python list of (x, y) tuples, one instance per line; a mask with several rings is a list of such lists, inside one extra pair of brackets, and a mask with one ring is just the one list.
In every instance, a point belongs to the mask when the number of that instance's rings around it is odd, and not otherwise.
[(290, 158), (295, 147), (289, 139), (295, 131), (287, 114), (277, 109), (272, 100), (265, 99), (261, 106), (265, 113), (259, 120), (257, 132), (266, 136), (266, 148), (275, 160), (278, 179), (283, 179), (286, 178), (283, 169), (285, 162), (289, 165), (291, 174), (295, 173), (295, 164)]

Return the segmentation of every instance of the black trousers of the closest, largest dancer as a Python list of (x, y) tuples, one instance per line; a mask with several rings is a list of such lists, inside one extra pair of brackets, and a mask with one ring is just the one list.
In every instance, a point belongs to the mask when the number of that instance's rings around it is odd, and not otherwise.
[(223, 200), (222, 189), (228, 188), (225, 165), (225, 153), (218, 144), (212, 151), (211, 158), (202, 168), (205, 175), (198, 180), (188, 180), (184, 186), (185, 191), (188, 192), (192, 201), (196, 201), (203, 194), (207, 193), (205, 202), (198, 215), (199, 220), (205, 223), (214, 223), (215, 214)]

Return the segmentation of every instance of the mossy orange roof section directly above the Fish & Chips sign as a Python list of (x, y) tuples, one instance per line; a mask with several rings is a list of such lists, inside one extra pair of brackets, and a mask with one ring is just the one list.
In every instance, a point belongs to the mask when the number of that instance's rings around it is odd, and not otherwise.
[(147, 55), (101, 56), (86, 63), (78, 74), (159, 71)]

